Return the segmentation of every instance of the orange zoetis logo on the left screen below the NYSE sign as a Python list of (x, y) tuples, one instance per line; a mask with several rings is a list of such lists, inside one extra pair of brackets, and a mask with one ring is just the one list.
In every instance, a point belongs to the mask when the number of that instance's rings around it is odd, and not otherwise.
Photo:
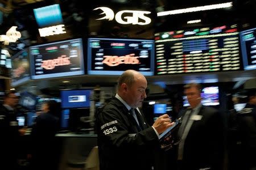
[(43, 60), (41, 67), (43, 67), (46, 70), (52, 70), (55, 68), (55, 66), (70, 65), (71, 62), (69, 61), (69, 59), (70, 57), (67, 57), (66, 55), (62, 55), (56, 59)]

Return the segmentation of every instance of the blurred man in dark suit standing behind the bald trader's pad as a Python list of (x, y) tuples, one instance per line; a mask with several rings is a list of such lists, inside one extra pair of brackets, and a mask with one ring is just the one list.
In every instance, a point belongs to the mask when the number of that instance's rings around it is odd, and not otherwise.
[(177, 145), (179, 169), (221, 169), (222, 120), (218, 111), (201, 104), (201, 86), (184, 86), (190, 107), (181, 112)]

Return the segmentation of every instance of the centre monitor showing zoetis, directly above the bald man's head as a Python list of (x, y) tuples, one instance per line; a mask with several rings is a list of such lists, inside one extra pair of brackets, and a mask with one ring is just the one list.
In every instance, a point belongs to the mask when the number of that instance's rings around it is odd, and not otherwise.
[(154, 40), (88, 39), (88, 74), (120, 75), (137, 70), (154, 75)]

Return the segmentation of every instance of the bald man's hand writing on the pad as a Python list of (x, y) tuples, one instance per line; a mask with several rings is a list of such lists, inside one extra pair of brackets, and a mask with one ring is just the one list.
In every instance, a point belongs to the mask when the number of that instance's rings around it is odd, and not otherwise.
[(158, 131), (158, 134), (161, 134), (164, 130), (170, 128), (172, 125), (174, 125), (174, 122), (171, 121), (168, 114), (164, 114), (156, 119), (153, 127), (156, 131)]

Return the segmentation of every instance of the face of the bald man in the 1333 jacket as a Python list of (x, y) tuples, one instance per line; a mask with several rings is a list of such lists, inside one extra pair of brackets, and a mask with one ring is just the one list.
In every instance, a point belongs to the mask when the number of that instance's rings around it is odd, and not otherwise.
[(133, 108), (137, 108), (142, 104), (146, 95), (147, 80), (144, 76), (135, 78), (135, 83), (131, 87), (127, 87), (127, 104)]

